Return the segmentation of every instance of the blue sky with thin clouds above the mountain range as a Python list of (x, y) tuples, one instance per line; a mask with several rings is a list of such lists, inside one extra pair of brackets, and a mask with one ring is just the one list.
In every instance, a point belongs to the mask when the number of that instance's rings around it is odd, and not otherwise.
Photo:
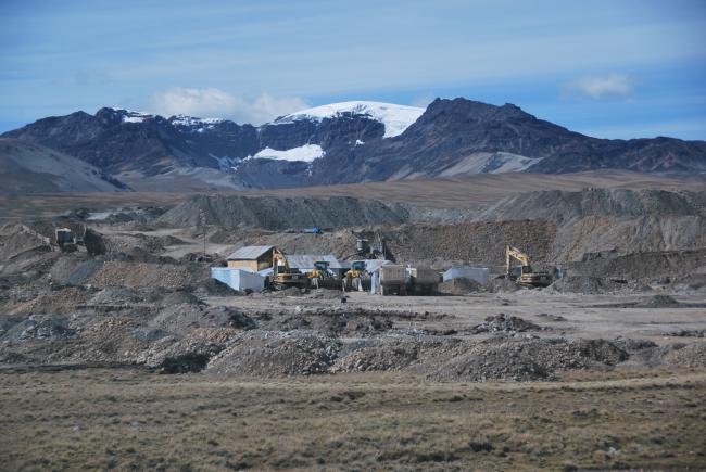
[(0, 131), (101, 106), (259, 124), (466, 97), (706, 139), (705, 1), (5, 0), (0, 64)]

